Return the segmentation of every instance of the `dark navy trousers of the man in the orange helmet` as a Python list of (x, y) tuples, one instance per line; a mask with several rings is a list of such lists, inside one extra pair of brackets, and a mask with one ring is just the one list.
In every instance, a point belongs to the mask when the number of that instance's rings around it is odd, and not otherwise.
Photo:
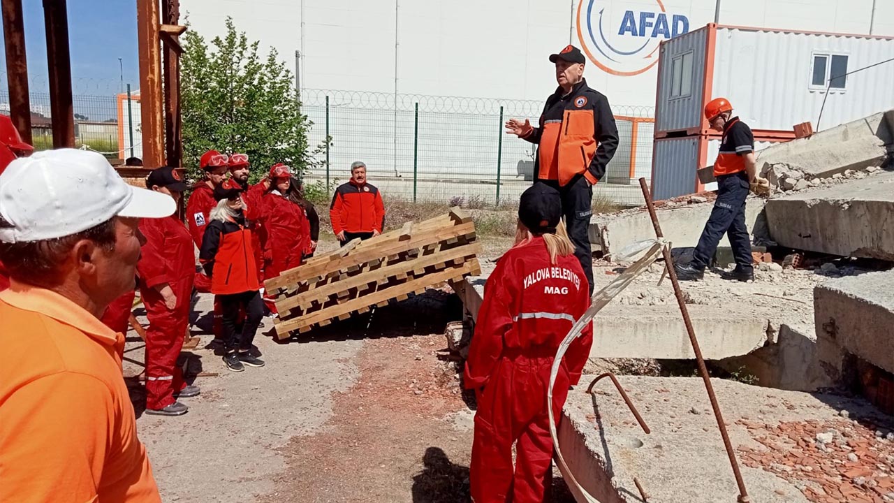
[(698, 239), (696, 252), (692, 255), (691, 265), (696, 269), (704, 269), (711, 263), (717, 245), (723, 234), (730, 238), (732, 255), (736, 260), (736, 269), (752, 271), (751, 237), (745, 225), (745, 199), (748, 197), (748, 175), (735, 173), (717, 177), (717, 200), (711, 210), (711, 217), (704, 224), (702, 237)]

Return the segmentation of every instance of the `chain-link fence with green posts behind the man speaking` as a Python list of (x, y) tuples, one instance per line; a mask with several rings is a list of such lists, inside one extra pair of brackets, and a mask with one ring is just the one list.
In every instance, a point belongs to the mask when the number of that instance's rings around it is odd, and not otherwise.
[[(500, 204), (518, 200), (533, 179), (536, 147), (506, 135), (503, 124), (536, 124), (543, 102), (334, 90), (303, 90), (301, 101), (314, 123), (310, 143), (332, 139), (323, 166), (306, 178), (330, 190), (355, 160), (386, 198), (401, 200)], [(651, 176), (654, 108), (611, 108), (620, 145), (595, 197), (638, 205), (636, 180)]]

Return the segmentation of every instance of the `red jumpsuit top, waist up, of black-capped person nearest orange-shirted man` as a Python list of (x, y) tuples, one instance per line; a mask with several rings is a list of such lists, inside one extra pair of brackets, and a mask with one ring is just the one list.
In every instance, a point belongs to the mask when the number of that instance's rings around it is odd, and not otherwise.
[(141, 288), (192, 281), (196, 274), (192, 238), (176, 216), (140, 218), (139, 231), (146, 236), (137, 262)]

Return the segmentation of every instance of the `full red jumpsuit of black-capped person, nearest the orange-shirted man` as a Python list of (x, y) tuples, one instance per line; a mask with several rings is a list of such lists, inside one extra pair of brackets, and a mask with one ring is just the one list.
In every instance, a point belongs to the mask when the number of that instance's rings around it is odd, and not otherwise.
[[(173, 394), (186, 387), (177, 357), (190, 323), (192, 280), (196, 256), (186, 226), (176, 216), (141, 218), (139, 230), (146, 244), (137, 270), (139, 293), (146, 305), (146, 408), (158, 410), (174, 402)], [(164, 305), (156, 286), (168, 284), (177, 297), (173, 310)]]

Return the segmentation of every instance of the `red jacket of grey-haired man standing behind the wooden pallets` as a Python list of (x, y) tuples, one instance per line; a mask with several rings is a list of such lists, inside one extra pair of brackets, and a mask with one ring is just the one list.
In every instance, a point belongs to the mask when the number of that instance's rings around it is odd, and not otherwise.
[(358, 185), (351, 180), (335, 189), (333, 202), (329, 207), (329, 218), (333, 232), (371, 233), (382, 232), (385, 207), (382, 194), (374, 185)]

